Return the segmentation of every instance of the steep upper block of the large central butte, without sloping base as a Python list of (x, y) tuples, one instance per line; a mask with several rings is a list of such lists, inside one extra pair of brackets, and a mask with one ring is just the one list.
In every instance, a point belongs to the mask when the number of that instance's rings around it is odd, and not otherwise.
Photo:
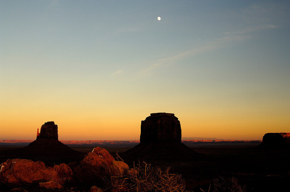
[(173, 113), (151, 113), (141, 121), (140, 143), (181, 143), (180, 121)]

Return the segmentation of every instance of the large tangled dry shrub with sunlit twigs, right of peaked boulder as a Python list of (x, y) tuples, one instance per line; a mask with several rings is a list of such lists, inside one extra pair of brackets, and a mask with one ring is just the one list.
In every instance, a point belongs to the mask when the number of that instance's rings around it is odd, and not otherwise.
[(179, 174), (170, 174), (159, 167), (152, 167), (145, 162), (128, 171), (126, 176), (112, 177), (107, 182), (107, 189), (111, 191), (185, 191), (184, 180)]

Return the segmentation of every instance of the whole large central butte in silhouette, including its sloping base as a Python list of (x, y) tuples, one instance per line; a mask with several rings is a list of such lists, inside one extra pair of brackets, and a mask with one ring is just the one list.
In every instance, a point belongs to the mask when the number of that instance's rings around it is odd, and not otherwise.
[(151, 113), (141, 121), (140, 143), (122, 156), (141, 159), (184, 158), (197, 154), (181, 143), (180, 121), (173, 113)]

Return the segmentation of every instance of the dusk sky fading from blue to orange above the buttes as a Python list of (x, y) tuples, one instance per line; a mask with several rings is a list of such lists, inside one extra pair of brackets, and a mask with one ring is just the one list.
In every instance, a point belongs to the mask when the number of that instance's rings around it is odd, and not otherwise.
[(289, 34), (289, 1), (0, 1), (0, 139), (290, 132)]

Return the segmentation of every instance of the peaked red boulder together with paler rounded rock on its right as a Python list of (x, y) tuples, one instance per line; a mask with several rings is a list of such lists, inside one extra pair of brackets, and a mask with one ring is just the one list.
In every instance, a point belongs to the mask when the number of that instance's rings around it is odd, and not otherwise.
[(128, 169), (126, 163), (115, 161), (106, 149), (96, 147), (86, 154), (74, 171), (80, 182), (102, 183), (104, 178), (110, 179), (110, 176), (124, 175)]

